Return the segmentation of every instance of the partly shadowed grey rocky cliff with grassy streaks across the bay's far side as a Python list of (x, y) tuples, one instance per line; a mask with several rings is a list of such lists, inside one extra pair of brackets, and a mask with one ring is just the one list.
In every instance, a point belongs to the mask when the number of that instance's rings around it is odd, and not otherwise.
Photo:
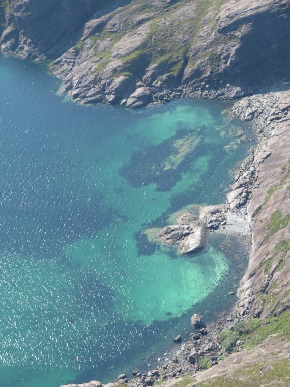
[[(225, 4), (223, 4), (225, 3)], [(290, 77), (288, 0), (2, 0), (4, 52), (83, 103), (234, 98)]]

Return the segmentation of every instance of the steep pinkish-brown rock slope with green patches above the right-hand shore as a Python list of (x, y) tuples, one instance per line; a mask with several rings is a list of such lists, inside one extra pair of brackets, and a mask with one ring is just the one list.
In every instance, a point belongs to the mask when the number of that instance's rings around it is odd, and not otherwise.
[(290, 307), (290, 91), (279, 94), (251, 98), (252, 104), (268, 98), (272, 109), (260, 112), (264, 125), (259, 122), (257, 128), (264, 138), (251, 160), (256, 174), (247, 206), (252, 247), (240, 287), (240, 312), (262, 319)]

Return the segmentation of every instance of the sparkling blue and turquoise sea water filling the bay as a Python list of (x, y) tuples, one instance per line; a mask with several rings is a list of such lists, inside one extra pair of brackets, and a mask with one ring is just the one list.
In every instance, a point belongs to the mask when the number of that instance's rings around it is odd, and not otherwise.
[(203, 303), (225, 306), (211, 297), (239, 269), (218, 243), (179, 257), (142, 230), (223, 203), (248, 129), (222, 114), (229, 103), (76, 105), (15, 58), (0, 58), (0, 81), (0, 380), (108, 382), (190, 329)]

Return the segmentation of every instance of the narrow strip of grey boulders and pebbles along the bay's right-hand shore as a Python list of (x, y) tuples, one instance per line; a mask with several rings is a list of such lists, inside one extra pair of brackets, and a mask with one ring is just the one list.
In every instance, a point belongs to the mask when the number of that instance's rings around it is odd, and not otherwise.
[[(268, 93), (267, 95), (255, 95), (252, 97), (243, 98), (236, 102), (231, 109), (233, 116), (239, 116), (242, 120), (253, 121), (253, 128), (257, 132), (258, 142), (251, 149), (249, 156), (243, 160), (237, 167), (237, 173), (235, 177), (235, 183), (233, 184), (232, 191), (228, 194), (228, 212), (227, 224), (221, 226), (215, 233), (226, 234), (237, 237), (239, 240), (247, 243), (248, 236), (252, 237), (252, 244), (254, 243), (255, 234), (251, 233), (251, 225), (256, 214), (256, 210), (252, 207), (252, 191), (259, 190), (259, 167), (265, 160), (273, 153), (268, 150), (268, 143), (273, 137), (281, 136), (283, 134), (282, 127), (286, 127), (288, 120), (290, 121), (290, 113), (288, 108), (290, 107), (290, 101), (285, 104), (284, 99), (287, 97), (287, 92)], [(262, 100), (262, 103), (261, 103)], [(273, 109), (278, 109), (278, 101), (282, 101), (283, 115), (273, 115)], [(254, 106), (254, 107), (252, 107)], [(276, 107), (274, 107), (276, 106)], [(274, 119), (273, 119), (274, 117)], [(270, 119), (269, 119), (270, 118)], [(241, 188), (243, 188), (241, 190)], [(241, 195), (243, 192), (247, 192), (246, 201), (241, 202)], [(256, 195), (254, 195), (256, 196)], [(249, 242), (248, 242), (249, 243)], [(249, 266), (251, 263), (251, 257), (253, 256), (253, 245), (251, 246), (251, 253), (249, 257)], [(247, 271), (249, 270), (249, 266)], [(164, 387), (167, 386), (169, 380), (172, 379), (172, 384), (175, 384), (181, 376), (188, 374), (195, 374), (201, 370), (200, 364), (202, 360), (210, 361), (211, 366), (216, 366), (223, 361), (225, 357), (230, 356), (224, 350), (221, 349), (221, 343), (217, 338), (217, 334), (220, 331), (230, 329), (239, 321), (245, 321), (254, 316), (253, 311), (246, 305), (244, 297), (245, 289), (245, 273), (244, 278), (240, 283), (238, 289), (239, 298), (235, 307), (228, 311), (223, 317), (215, 322), (208, 324), (205, 328), (207, 334), (201, 334), (192, 336), (191, 339), (183, 341), (181, 347), (172, 355), (165, 357), (164, 364), (156, 367), (156, 370), (149, 371), (146, 375), (141, 374), (138, 377), (129, 378), (129, 384), (132, 386), (149, 386), (164, 383)], [(198, 330), (195, 330), (197, 333)], [(194, 339), (195, 337), (195, 339)], [(197, 340), (196, 340), (197, 338)], [(238, 351), (242, 350), (241, 346), (237, 347)], [(195, 365), (189, 362), (189, 357), (195, 352), (195, 357), (199, 360)], [(196, 353), (197, 352), (197, 353)], [(192, 356), (194, 357), (194, 356)], [(133, 370), (132, 370), (133, 371)], [(120, 376), (119, 376), (120, 377)], [(107, 387), (117, 386), (119, 384), (128, 383), (127, 377), (115, 383), (108, 383)], [(165, 384), (167, 383), (167, 384)], [(169, 384), (168, 384), (169, 385)], [(70, 385), (73, 387), (74, 385)], [(75, 385), (76, 386), (76, 385)], [(80, 386), (80, 385), (79, 385)], [(83, 387), (93, 387), (94, 384), (81, 384)], [(167, 386), (168, 387), (168, 386)]]

